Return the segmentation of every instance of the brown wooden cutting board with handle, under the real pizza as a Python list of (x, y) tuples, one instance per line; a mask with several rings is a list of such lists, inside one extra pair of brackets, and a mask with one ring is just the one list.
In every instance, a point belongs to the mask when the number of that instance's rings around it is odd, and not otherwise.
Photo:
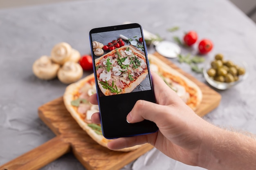
[[(198, 115), (202, 117), (218, 106), (221, 99), (219, 93), (185, 73), (165, 57), (158, 53), (154, 55), (200, 87), (203, 96), (202, 103), (195, 111)], [(117, 152), (100, 146), (76, 123), (65, 108), (62, 97), (40, 106), (38, 115), (56, 137), (0, 166), (0, 170), (37, 170), (70, 151), (87, 170), (119, 170), (153, 148), (146, 144), (132, 152)]]

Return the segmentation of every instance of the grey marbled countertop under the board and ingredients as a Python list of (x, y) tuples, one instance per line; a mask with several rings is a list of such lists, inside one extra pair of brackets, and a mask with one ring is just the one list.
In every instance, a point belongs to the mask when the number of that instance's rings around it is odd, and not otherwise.
[[(220, 105), (205, 116), (218, 126), (256, 134), (256, 24), (227, 0), (84, 0), (0, 10), (0, 165), (46, 141), (54, 133), (39, 119), (37, 108), (63, 95), (58, 79), (43, 81), (32, 73), (33, 62), (49, 55), (54, 44), (68, 42), (81, 54), (90, 53), (88, 33), (101, 26), (137, 22), (166, 40), (195, 30), (214, 43), (211, 53), (247, 62), (249, 77), (222, 95)], [(170, 33), (166, 29), (179, 26)], [(196, 47), (194, 47), (196, 48)], [(153, 51), (154, 49), (149, 49)], [(196, 51), (194, 49), (194, 51)], [(182, 48), (182, 53), (194, 53)], [(202, 82), (201, 74), (170, 59)], [(83, 76), (92, 72), (85, 72)], [(42, 170), (84, 170), (72, 153)], [(123, 170), (200, 170), (151, 150)]]

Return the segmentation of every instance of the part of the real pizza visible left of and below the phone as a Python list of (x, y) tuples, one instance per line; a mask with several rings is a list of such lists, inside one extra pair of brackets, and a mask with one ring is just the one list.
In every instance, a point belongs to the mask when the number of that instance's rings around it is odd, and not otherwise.
[[(94, 124), (91, 120), (92, 114), (99, 112), (99, 106), (89, 102), (90, 95), (94, 93), (96, 93), (95, 78), (94, 74), (91, 74), (67, 86), (63, 95), (64, 104), (79, 126), (81, 126), (94, 141), (108, 148), (107, 144), (111, 139), (103, 137), (101, 124)], [(133, 146), (117, 151), (128, 152), (140, 146), (141, 145)]]

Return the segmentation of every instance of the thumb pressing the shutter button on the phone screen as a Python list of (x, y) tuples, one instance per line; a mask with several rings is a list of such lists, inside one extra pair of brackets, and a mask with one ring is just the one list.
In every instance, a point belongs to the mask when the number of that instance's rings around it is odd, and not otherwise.
[[(168, 113), (167, 107), (145, 100), (138, 100), (126, 119), (129, 123), (136, 123), (144, 119), (157, 122), (163, 117), (163, 114)], [(161, 115), (161, 116), (160, 116)]]

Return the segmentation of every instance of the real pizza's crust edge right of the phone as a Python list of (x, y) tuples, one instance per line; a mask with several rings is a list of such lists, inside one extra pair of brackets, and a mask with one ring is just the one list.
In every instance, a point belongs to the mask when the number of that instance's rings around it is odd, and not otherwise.
[(184, 75), (182, 75), (181, 73), (179, 73), (177, 70), (171, 68), (171, 66), (168, 66), (165, 62), (162, 62), (162, 60), (160, 60), (159, 58), (157, 58), (155, 55), (153, 54), (148, 54), (148, 59), (150, 60), (150, 63), (152, 64), (156, 64), (159, 68), (159, 72), (160, 74), (162, 72), (167, 72), (170, 73), (171, 75), (175, 75), (176, 77), (180, 77), (180, 79), (184, 80), (184, 82), (186, 82), (186, 84), (191, 87), (194, 88), (196, 91), (196, 104), (195, 106), (190, 106), (193, 110), (196, 110), (196, 108), (198, 107), (198, 105), (202, 102), (202, 91), (201, 89), (198, 87), (197, 84), (195, 84), (194, 82), (192, 82), (190, 79), (188, 79), (187, 77), (185, 77)]

